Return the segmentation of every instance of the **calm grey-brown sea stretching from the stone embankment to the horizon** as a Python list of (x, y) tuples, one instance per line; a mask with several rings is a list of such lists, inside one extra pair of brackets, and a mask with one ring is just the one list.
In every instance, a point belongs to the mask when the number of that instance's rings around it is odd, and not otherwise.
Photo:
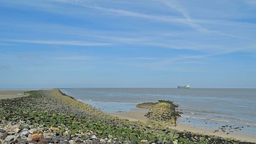
[[(104, 112), (130, 111), (136, 104), (170, 100), (182, 117), (256, 128), (256, 89), (249, 88), (70, 88), (62, 92)], [(205, 123), (205, 122), (204, 122)], [(255, 132), (255, 131), (254, 131)]]

